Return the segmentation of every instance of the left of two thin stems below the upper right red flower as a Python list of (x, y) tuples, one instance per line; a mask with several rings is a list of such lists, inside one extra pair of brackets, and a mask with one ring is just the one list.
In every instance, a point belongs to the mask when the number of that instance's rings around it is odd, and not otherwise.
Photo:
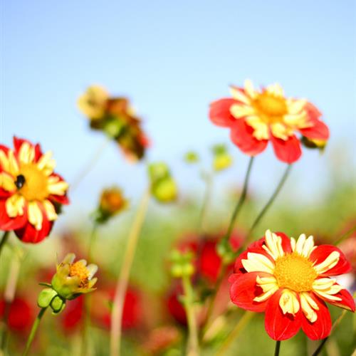
[[(223, 238), (223, 241), (225, 240), (226, 244), (229, 244), (229, 240), (230, 240), (232, 231), (234, 229), (236, 219), (239, 216), (239, 212), (241, 211), (241, 208), (244, 205), (244, 202), (246, 200), (246, 195), (247, 195), (247, 190), (248, 190), (248, 182), (249, 182), (250, 175), (251, 175), (253, 159), (254, 159), (254, 157), (251, 157), (248, 162), (247, 172), (246, 172), (246, 176), (244, 179), (244, 187), (242, 188), (241, 196), (239, 198), (239, 201), (237, 201), (234, 212), (232, 213), (231, 220), (230, 220), (226, 235)], [(208, 311), (206, 313), (206, 319), (205, 319), (206, 321), (204, 323), (205, 324), (204, 330), (207, 330), (207, 328), (209, 328), (209, 323), (210, 323), (211, 315), (213, 313), (214, 304), (215, 304), (215, 300), (216, 300), (216, 294), (218, 293), (218, 290), (219, 290), (221, 283), (224, 279), (225, 273), (226, 273), (226, 263), (224, 263), (224, 260), (222, 260), (219, 275), (218, 275), (218, 278), (215, 283), (214, 291), (213, 291), (211, 297), (209, 298)]]

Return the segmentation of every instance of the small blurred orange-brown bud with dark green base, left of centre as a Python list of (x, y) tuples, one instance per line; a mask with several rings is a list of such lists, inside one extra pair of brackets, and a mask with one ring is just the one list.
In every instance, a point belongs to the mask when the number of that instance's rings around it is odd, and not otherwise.
[(120, 188), (111, 187), (104, 189), (100, 196), (99, 207), (95, 212), (95, 221), (103, 223), (112, 216), (119, 214), (127, 207), (127, 200), (122, 195)]

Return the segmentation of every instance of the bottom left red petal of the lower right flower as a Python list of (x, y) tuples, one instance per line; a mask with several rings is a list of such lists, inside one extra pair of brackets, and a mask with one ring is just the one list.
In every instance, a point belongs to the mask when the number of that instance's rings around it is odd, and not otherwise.
[(283, 288), (274, 293), (266, 305), (265, 328), (273, 340), (287, 340), (298, 333), (302, 323), (302, 315), (299, 310), (295, 315), (283, 314), (279, 306), (279, 298)]

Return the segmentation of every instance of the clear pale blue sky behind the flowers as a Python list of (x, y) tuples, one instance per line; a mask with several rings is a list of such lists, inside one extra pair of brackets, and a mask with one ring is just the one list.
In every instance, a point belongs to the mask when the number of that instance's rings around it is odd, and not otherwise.
[[(304, 150), (288, 183), (302, 201), (315, 199), (333, 182), (330, 164), (343, 175), (355, 168), (355, 38), (352, 0), (3, 0), (1, 142), (11, 145), (13, 135), (41, 142), (73, 182), (103, 144), (75, 105), (98, 83), (132, 100), (152, 139), (149, 159), (167, 160), (184, 191), (199, 184), (182, 164), (184, 152), (197, 150), (208, 162), (211, 145), (229, 142), (228, 130), (209, 122), (209, 103), (245, 78), (278, 81), (287, 95), (318, 105), (330, 126), (325, 155)], [(220, 186), (244, 177), (247, 157), (233, 145), (231, 152), (234, 169)], [(268, 194), (283, 169), (270, 148), (256, 159), (253, 189)], [(110, 145), (73, 203), (91, 209), (112, 183), (137, 197), (143, 173)]]

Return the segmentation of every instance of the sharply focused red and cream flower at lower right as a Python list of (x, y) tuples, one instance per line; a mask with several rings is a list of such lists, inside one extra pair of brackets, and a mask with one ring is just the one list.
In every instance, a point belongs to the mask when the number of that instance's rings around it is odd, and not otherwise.
[(350, 268), (335, 246), (314, 246), (313, 236), (303, 234), (295, 241), (268, 230), (237, 258), (229, 278), (230, 297), (240, 308), (265, 312), (273, 340), (293, 337), (300, 328), (319, 340), (331, 330), (325, 301), (355, 311), (352, 295), (330, 278)]

